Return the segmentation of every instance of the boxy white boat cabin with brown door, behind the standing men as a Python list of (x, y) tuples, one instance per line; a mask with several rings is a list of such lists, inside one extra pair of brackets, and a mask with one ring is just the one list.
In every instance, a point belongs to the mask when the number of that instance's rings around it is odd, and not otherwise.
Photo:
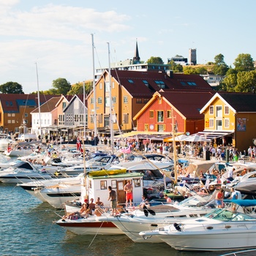
[[(131, 181), (133, 187), (133, 203), (140, 203), (141, 196), (143, 195), (143, 174), (142, 173), (124, 173), (111, 176), (99, 176), (99, 177), (86, 177), (88, 182), (88, 195), (89, 198), (100, 197), (100, 200), (104, 203), (104, 206), (110, 206), (108, 201), (109, 190), (108, 186), (111, 186), (116, 191), (117, 200), (119, 203), (125, 203), (124, 186), (127, 181)], [(82, 201), (84, 200), (85, 193), (82, 192)]]

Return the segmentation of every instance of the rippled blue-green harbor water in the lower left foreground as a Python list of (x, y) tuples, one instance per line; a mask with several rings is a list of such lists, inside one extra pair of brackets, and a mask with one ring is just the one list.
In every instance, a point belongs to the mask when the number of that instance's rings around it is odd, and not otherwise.
[(135, 244), (127, 236), (78, 236), (54, 223), (55, 208), (14, 184), (0, 183), (0, 255), (221, 255)]

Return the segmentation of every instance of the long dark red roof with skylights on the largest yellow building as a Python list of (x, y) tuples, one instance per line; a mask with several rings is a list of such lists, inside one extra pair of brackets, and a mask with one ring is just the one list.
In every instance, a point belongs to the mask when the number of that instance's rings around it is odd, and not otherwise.
[(111, 76), (129, 91), (132, 97), (151, 97), (155, 91), (213, 91), (200, 75), (165, 72), (111, 70)]

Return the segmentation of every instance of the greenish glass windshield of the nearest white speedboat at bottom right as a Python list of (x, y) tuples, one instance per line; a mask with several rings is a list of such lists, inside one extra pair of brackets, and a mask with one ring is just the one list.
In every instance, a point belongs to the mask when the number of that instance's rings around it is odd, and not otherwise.
[(208, 219), (217, 219), (225, 222), (245, 222), (256, 221), (255, 217), (242, 214), (240, 212), (228, 211), (227, 209), (217, 209), (205, 215)]

